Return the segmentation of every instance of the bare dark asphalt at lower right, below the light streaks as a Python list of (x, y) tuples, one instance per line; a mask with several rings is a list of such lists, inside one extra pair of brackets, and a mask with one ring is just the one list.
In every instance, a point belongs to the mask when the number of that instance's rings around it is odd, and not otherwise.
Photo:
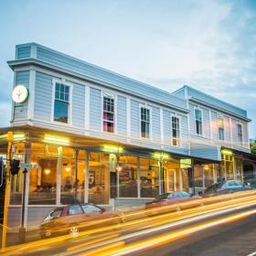
[[(140, 256), (242, 256), (256, 251), (256, 216), (206, 229), (146, 251)], [(256, 255), (256, 254), (255, 254)]]

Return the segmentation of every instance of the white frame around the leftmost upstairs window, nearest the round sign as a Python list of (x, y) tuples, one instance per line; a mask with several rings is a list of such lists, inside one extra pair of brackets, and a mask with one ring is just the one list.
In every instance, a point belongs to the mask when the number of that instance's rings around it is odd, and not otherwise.
[[(54, 110), (55, 110), (55, 91), (56, 91), (56, 84), (63, 84), (64, 86), (69, 87), (69, 105), (68, 105), (68, 123), (62, 123), (59, 121), (54, 120)], [(52, 79), (52, 102), (51, 102), (51, 123), (58, 123), (59, 125), (64, 126), (71, 126), (72, 125), (72, 99), (73, 99), (73, 84), (67, 80), (59, 80), (59, 79)], [(57, 100), (59, 101), (59, 100)]]

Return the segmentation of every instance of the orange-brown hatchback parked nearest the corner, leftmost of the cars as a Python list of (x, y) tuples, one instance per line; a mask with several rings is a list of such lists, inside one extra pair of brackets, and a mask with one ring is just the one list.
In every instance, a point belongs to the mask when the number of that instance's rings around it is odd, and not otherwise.
[(40, 225), (41, 238), (57, 234), (76, 236), (80, 230), (123, 222), (123, 213), (94, 204), (76, 204), (54, 208)]

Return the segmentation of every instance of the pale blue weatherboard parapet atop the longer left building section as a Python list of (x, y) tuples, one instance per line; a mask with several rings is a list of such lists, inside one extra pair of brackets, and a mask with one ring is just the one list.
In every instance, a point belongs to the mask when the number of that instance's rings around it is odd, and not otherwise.
[(9, 66), (14, 69), (16, 65), (33, 62), (34, 64), (72, 73), (74, 76), (82, 76), (86, 80), (101, 83), (114, 90), (125, 91), (148, 101), (188, 112), (187, 102), (172, 93), (161, 90), (144, 82), (133, 80), (121, 74), (102, 69), (89, 62), (73, 58), (51, 48), (28, 43), (16, 46), (16, 59), (8, 61)]

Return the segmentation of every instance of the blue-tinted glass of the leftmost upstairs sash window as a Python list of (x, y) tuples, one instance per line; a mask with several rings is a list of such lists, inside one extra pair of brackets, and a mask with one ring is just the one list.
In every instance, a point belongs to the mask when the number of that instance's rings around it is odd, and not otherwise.
[(55, 85), (54, 121), (69, 123), (69, 86), (60, 83)]

